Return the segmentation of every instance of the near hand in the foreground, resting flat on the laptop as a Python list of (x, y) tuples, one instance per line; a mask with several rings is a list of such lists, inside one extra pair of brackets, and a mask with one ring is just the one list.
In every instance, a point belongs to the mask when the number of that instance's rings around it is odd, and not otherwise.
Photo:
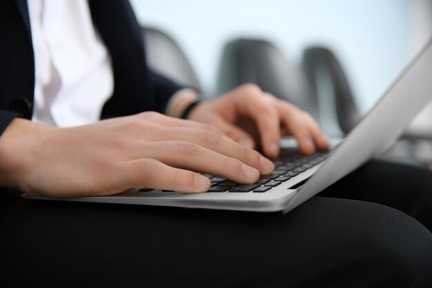
[(253, 183), (274, 169), (213, 126), (155, 112), (72, 128), (14, 119), (0, 137), (0, 157), (0, 186), (50, 197), (137, 187), (197, 193), (210, 187), (197, 172)]

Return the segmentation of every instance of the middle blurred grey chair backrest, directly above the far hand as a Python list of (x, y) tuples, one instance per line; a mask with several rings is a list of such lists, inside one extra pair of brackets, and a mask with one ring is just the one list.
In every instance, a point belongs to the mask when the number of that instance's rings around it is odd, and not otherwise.
[(317, 101), (311, 94), (302, 68), (291, 63), (271, 42), (235, 39), (224, 47), (218, 77), (218, 92), (239, 84), (255, 83), (262, 90), (317, 117)]

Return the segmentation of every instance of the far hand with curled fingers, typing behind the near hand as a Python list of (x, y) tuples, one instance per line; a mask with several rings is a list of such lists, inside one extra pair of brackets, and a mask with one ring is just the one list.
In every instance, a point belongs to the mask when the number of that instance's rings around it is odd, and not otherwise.
[(314, 153), (315, 147), (328, 149), (324, 133), (308, 113), (264, 93), (255, 84), (244, 84), (200, 103), (188, 119), (211, 124), (244, 146), (261, 144), (268, 157), (279, 155), (281, 136), (288, 135), (296, 138), (304, 154)]

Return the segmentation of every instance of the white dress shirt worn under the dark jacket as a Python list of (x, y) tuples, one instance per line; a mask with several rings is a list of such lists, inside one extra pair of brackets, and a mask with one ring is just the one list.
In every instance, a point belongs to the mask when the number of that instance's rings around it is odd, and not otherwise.
[(96, 122), (114, 79), (87, 1), (27, 3), (35, 52), (32, 120), (60, 127)]

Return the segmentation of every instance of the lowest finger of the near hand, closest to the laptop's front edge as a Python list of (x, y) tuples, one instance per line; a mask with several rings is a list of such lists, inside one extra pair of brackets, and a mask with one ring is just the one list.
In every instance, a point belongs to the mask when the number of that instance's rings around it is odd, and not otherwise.
[(197, 193), (210, 188), (207, 177), (193, 171), (170, 167), (153, 159), (123, 162), (119, 166), (116, 179), (124, 190), (146, 187)]

